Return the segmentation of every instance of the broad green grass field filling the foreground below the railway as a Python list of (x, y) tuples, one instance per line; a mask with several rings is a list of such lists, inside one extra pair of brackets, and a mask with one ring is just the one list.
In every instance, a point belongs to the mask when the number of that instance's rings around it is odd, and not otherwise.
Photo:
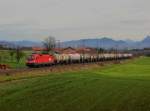
[(0, 83), (0, 111), (150, 111), (150, 58)]

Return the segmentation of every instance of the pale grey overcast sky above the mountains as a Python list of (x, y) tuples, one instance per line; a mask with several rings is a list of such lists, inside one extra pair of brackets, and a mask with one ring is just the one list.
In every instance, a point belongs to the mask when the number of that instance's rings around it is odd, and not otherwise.
[(0, 0), (0, 40), (150, 35), (150, 0)]

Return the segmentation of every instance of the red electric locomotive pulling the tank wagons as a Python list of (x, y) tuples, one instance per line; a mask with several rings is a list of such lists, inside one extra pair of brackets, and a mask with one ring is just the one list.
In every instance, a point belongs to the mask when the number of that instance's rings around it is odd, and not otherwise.
[(55, 57), (50, 54), (32, 54), (27, 58), (28, 67), (49, 66), (55, 63)]

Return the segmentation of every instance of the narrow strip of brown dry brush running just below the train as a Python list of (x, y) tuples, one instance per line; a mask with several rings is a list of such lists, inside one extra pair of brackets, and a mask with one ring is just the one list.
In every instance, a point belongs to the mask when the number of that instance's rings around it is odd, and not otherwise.
[(16, 75), (16, 74), (27, 74), (27, 73), (61, 73), (64, 71), (77, 71), (77, 70), (82, 70), (82, 69), (88, 69), (89, 67), (99, 67), (99, 66), (104, 66), (107, 64), (120, 64), (127, 61), (125, 60), (111, 60), (111, 61), (101, 61), (101, 62), (92, 62), (92, 63), (74, 63), (74, 64), (61, 64), (61, 65), (53, 65), (49, 67), (40, 67), (40, 68), (19, 68), (19, 69), (6, 69), (6, 70), (0, 70), (0, 76), (1, 75), (6, 75), (6, 76), (11, 76), (11, 75)]

